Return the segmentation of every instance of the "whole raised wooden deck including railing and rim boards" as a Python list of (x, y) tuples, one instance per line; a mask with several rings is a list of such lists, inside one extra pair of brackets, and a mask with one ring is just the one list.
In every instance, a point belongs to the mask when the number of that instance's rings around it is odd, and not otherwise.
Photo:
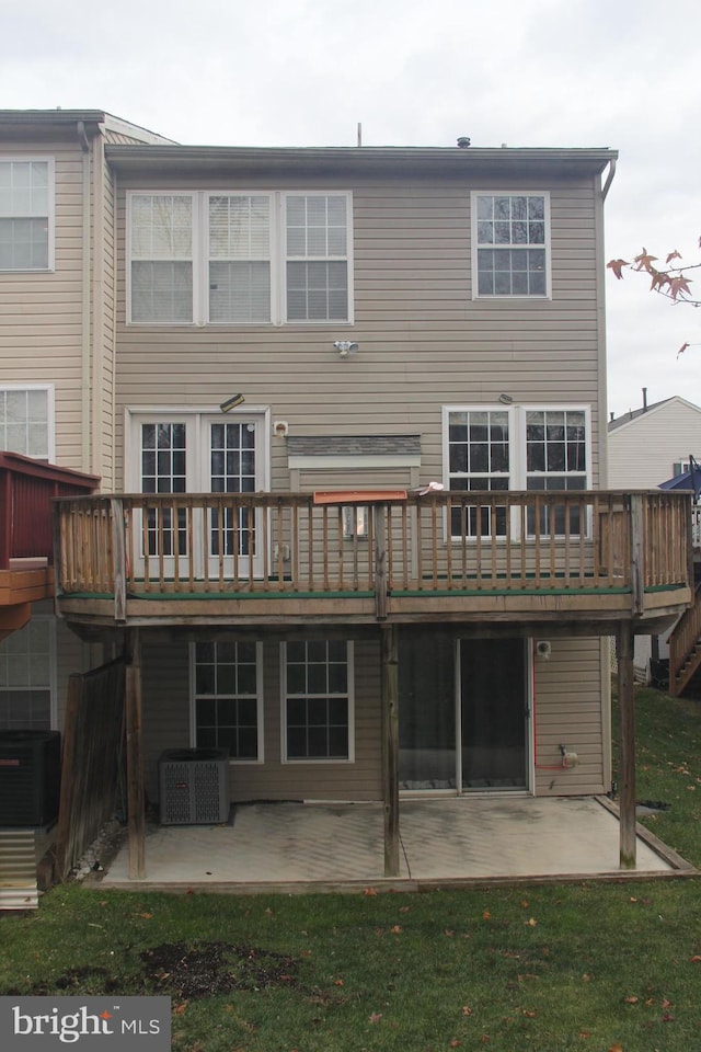
[(59, 611), (105, 627), (566, 621), (606, 634), (692, 595), (689, 498), (669, 491), (104, 495), (58, 501), (55, 531)]

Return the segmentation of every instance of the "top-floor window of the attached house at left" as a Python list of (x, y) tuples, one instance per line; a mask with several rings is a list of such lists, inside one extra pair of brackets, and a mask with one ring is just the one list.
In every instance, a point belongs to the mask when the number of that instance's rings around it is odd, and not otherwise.
[(53, 232), (53, 160), (0, 161), (0, 271), (50, 270)]

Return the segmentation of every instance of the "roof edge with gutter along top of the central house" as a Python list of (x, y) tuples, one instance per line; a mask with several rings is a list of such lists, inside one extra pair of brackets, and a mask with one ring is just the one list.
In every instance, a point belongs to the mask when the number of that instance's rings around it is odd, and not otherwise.
[(177, 175), (231, 171), (254, 175), (285, 168), (288, 172), (313, 171), (361, 174), (391, 171), (403, 174), (572, 176), (598, 175), (618, 157), (607, 147), (529, 148), (501, 147), (232, 147), (232, 146), (131, 146), (107, 145), (110, 163), (124, 174), (177, 170)]

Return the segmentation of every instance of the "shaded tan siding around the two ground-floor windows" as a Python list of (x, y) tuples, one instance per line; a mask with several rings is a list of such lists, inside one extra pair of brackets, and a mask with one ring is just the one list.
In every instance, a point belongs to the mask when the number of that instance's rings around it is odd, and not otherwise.
[[(375, 642), (354, 645), (355, 762), (280, 762), (279, 643), (264, 644), (264, 746), (262, 764), (231, 764), (232, 800), (378, 800), (380, 789), (380, 652)], [(142, 639), (143, 739), (147, 793), (158, 797), (158, 759), (164, 748), (189, 747), (189, 651), (164, 634)]]

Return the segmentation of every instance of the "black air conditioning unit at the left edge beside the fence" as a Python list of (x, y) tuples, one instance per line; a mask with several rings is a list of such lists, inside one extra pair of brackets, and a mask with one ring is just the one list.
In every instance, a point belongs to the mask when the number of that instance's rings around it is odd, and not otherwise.
[(0, 731), (0, 826), (54, 822), (60, 777), (58, 731)]

